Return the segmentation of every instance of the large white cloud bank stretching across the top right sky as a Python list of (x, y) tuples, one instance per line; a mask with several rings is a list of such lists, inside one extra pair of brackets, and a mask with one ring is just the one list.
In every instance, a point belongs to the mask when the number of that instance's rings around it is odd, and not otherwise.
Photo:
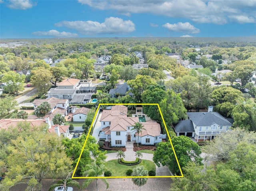
[(243, 23), (242, 20), (229, 17), (235, 14), (252, 17), (256, 22), (256, 0), (78, 0), (78, 2), (99, 10), (116, 10), (117, 13), (126, 16), (132, 13), (151, 13), (172, 18), (188, 18), (199, 23)]

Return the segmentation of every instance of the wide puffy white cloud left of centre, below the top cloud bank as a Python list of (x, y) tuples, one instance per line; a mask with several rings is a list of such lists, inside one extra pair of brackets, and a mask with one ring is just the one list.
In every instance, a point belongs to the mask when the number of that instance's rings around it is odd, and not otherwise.
[(75, 29), (85, 35), (94, 34), (120, 34), (130, 33), (135, 30), (135, 25), (130, 20), (122, 20), (121, 18), (110, 17), (106, 18), (103, 23), (96, 21), (62, 21), (56, 23), (55, 26), (65, 26)]

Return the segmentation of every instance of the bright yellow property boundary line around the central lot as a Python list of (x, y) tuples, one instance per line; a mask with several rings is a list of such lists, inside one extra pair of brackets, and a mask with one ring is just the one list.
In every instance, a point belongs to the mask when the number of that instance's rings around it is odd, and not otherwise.
[[(94, 120), (96, 119), (98, 110), (99, 110), (100, 106), (102, 106), (102, 105), (108, 105), (108, 106), (111, 106), (111, 105), (156, 105), (156, 106), (158, 106), (158, 110), (159, 110), (160, 115), (161, 115), (161, 117), (162, 117), (162, 120), (163, 120), (163, 123), (164, 123), (164, 127), (165, 127), (165, 129), (166, 129), (166, 133), (167, 133), (168, 138), (169, 138), (169, 140), (170, 140), (170, 144), (171, 144), (171, 146), (172, 146), (172, 150), (173, 150), (173, 152), (174, 152), (174, 156), (175, 156), (176, 161), (177, 161), (177, 163), (178, 163), (178, 167), (179, 167), (179, 169), (180, 169), (181, 175), (180, 175), (180, 176), (74, 177), (74, 174), (76, 173), (76, 169), (77, 169), (77, 167), (78, 167), (78, 163), (79, 163), (80, 158), (81, 158), (81, 156), (82, 156), (82, 153), (83, 153), (83, 151), (84, 151), (84, 147), (85, 147), (86, 142), (87, 142), (87, 140), (88, 140), (88, 137), (89, 137), (89, 135), (90, 135), (90, 131), (92, 130), (92, 126), (93, 126)], [(79, 158), (78, 158), (78, 161), (77, 161), (77, 163), (76, 163), (76, 167), (75, 167), (74, 172), (73, 172), (73, 174), (72, 174), (72, 177), (71, 177), (72, 179), (91, 179), (91, 178), (94, 178), (94, 179), (96, 179), (96, 178), (177, 178), (177, 177), (184, 177), (184, 175), (183, 175), (182, 170), (181, 170), (181, 168), (180, 168), (180, 163), (179, 163), (178, 158), (177, 158), (177, 156), (176, 156), (174, 147), (173, 147), (173, 145), (172, 145), (172, 140), (171, 140), (171, 138), (170, 138), (169, 132), (168, 132), (168, 130), (167, 130), (167, 127), (166, 127), (166, 124), (165, 124), (165, 121), (164, 121), (164, 117), (163, 117), (163, 115), (162, 115), (162, 112), (161, 112), (161, 109), (160, 109), (160, 106), (159, 106), (158, 103), (127, 103), (127, 104), (111, 104), (111, 103), (106, 103), (106, 104), (105, 104), (105, 103), (100, 103), (100, 104), (98, 105), (98, 108), (96, 109), (94, 118), (93, 118), (93, 120), (92, 120), (92, 124), (91, 124), (91, 126), (90, 126), (89, 131), (88, 131), (88, 135), (86, 136), (86, 140), (85, 140), (85, 142), (84, 142), (84, 146), (83, 146), (83, 148), (82, 148), (82, 151), (81, 151), (80, 156), (79, 156)]]

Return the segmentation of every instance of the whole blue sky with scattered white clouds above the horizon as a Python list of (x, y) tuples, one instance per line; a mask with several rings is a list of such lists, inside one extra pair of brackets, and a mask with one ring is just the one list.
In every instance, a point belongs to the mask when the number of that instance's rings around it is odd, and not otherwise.
[(0, 0), (0, 38), (256, 35), (256, 0)]

